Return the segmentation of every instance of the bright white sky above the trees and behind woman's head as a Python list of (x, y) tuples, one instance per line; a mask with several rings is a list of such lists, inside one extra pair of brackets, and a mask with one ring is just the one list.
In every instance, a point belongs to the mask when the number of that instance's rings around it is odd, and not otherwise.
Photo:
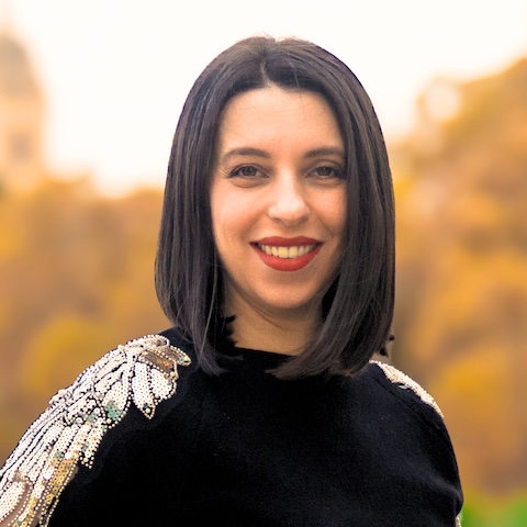
[(246, 36), (300, 36), (337, 55), (389, 144), (434, 79), (485, 77), (527, 56), (526, 0), (0, 0), (0, 16), (44, 89), (48, 166), (90, 172), (108, 195), (162, 187), (188, 91)]

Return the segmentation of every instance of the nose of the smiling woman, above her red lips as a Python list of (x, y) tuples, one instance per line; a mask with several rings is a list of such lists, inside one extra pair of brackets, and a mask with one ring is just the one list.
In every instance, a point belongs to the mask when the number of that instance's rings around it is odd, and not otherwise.
[(304, 222), (310, 215), (306, 189), (294, 175), (283, 173), (276, 177), (271, 186), (269, 216), (285, 225)]

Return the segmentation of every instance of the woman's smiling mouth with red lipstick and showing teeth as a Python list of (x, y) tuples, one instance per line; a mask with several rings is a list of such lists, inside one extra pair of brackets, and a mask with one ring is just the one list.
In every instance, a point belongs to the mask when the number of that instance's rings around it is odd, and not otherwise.
[(251, 244), (264, 264), (278, 271), (298, 271), (304, 268), (316, 257), (322, 245), (321, 242), (304, 236), (272, 236)]

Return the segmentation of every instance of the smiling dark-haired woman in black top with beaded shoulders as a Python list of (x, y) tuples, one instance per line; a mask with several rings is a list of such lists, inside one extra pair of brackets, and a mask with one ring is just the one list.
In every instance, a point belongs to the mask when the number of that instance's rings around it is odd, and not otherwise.
[(380, 125), (339, 59), (264, 36), (218, 55), (169, 162), (173, 327), (57, 393), (0, 472), (0, 525), (459, 525), (439, 408), (373, 360), (393, 216)]

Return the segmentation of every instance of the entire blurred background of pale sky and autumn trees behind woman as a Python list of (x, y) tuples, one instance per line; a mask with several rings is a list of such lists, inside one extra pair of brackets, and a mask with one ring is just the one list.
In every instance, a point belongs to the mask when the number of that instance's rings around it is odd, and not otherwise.
[(178, 3), (0, 0), (0, 463), (56, 390), (168, 325), (153, 266), (184, 97), (236, 40), (296, 35), (383, 124), (392, 361), (446, 415), (463, 526), (527, 526), (527, 2)]

